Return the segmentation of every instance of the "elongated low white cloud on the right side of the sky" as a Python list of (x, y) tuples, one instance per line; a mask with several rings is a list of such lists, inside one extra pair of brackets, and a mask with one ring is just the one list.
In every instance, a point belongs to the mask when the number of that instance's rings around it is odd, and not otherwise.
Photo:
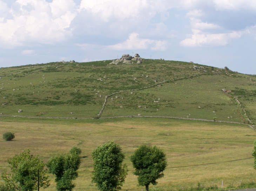
[(200, 30), (192, 30), (191, 38), (186, 38), (180, 42), (181, 46), (196, 47), (196, 46), (225, 46), (231, 40), (240, 38), (243, 32), (230, 32), (220, 34), (207, 34)]

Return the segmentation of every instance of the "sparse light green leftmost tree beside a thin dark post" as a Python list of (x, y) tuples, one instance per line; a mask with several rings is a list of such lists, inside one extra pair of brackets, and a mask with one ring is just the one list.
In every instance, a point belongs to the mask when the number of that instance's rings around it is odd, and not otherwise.
[(24, 150), (19, 155), (14, 155), (8, 159), (11, 173), (2, 173), (2, 179), (9, 191), (33, 191), (37, 190), (38, 170), (39, 170), (39, 186), (47, 188), (49, 184), (47, 170), (44, 169), (45, 164), (38, 156), (30, 155), (30, 150)]

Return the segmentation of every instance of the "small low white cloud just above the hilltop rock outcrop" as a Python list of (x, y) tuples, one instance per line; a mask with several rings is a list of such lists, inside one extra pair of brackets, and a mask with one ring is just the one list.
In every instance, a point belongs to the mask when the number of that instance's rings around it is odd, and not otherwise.
[(107, 49), (112, 50), (139, 50), (139, 49), (151, 49), (164, 51), (167, 49), (167, 41), (157, 41), (147, 38), (139, 38), (139, 34), (132, 33), (129, 39), (122, 43), (107, 46)]

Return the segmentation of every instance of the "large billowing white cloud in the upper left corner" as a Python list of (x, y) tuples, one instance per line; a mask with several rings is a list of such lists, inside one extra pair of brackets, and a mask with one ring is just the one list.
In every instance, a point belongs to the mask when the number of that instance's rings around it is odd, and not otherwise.
[(0, 41), (8, 46), (60, 42), (70, 35), (66, 28), (76, 16), (74, 6), (73, 0), (17, 0), (5, 8), (10, 16), (0, 19)]

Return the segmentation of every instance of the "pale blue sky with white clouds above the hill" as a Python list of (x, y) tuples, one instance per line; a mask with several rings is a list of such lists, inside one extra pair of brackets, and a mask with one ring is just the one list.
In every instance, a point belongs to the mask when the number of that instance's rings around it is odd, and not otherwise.
[(0, 67), (135, 53), (256, 74), (256, 0), (0, 0)]

